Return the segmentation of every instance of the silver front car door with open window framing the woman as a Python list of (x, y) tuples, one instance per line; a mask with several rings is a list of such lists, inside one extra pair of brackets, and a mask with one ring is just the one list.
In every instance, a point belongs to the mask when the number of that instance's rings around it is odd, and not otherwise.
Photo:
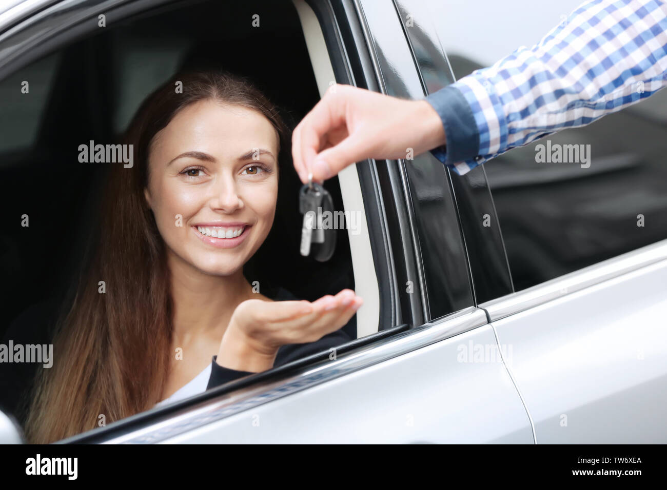
[[(17, 53), (67, 43), (83, 32), (80, 21), (96, 19), (101, 8), (94, 1), (72, 10), (52, 3), (21, 17), (22, 24), (13, 17), (0, 25), (3, 76), (21, 63)], [(148, 3), (107, 7), (118, 7), (111, 12), (122, 20)], [(338, 81), (424, 97), (394, 3), (294, 5), (320, 94)], [(442, 66), (443, 53), (434, 57)], [(448, 171), (431, 155), (407, 154), (352, 169), (358, 177), (344, 177), (350, 179), (342, 184), (344, 201), (363, 210), (372, 253), (355, 259), (360, 251), (353, 250), (354, 272), (356, 279), (372, 273), (379, 296), (378, 312), (358, 325), (370, 335), (62, 442), (532, 443), (530, 419), (508, 371), (511, 352), (499, 348), (486, 313), (476, 307)], [(355, 185), (358, 191), (350, 191)]]

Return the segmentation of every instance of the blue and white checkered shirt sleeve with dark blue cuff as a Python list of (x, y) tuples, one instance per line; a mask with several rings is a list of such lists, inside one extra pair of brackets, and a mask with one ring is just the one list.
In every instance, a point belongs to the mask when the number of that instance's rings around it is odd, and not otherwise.
[(664, 1), (588, 1), (532, 48), (520, 47), (428, 95), (447, 141), (431, 153), (463, 175), (509, 149), (620, 111), (665, 85)]

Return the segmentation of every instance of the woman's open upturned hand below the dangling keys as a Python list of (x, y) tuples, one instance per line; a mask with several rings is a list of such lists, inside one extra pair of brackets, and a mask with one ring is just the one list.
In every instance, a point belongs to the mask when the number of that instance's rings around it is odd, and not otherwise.
[(271, 369), (282, 345), (315, 342), (340, 329), (362, 302), (350, 289), (312, 303), (243, 301), (231, 315), (216, 362), (237, 371), (259, 373)]

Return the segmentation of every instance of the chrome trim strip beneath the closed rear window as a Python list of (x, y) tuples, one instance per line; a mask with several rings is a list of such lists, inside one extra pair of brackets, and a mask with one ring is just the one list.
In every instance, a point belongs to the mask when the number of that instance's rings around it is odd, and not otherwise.
[(667, 240), (589, 265), (523, 291), (486, 301), (479, 307), (486, 310), (489, 321), (500, 320), (664, 260), (667, 260)]

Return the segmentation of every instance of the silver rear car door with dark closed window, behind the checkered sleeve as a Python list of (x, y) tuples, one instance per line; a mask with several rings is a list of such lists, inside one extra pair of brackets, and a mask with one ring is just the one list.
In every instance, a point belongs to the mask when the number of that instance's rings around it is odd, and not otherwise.
[[(538, 33), (560, 20), (526, 11), (500, 26), (488, 15), (469, 15), (470, 9), (488, 13), (486, 6), (493, 9), (484, 0), (465, 9), (444, 6), (440, 11), (447, 15), (434, 16), (458, 78), (482, 66), (485, 46), (511, 53), (516, 41), (509, 36), (506, 43), (503, 33), (518, 32), (527, 18), (541, 26), (532, 25)], [(478, 29), (480, 24), (496, 27)], [(489, 235), (494, 228), (500, 234), (502, 226), (516, 292), (487, 291), (479, 307), (500, 345), (512, 347), (508, 369), (537, 443), (667, 441), (666, 124), (659, 115), (665, 107), (662, 91), (592, 125), (545, 138), (554, 147), (588, 145), (588, 166), (538, 163), (538, 145), (546, 144), (538, 140), (464, 175), (488, 182), (492, 191), (497, 219), (488, 222)], [(458, 198), (464, 209), (482, 202), (465, 193)], [(481, 216), (470, 218), (480, 222)], [(466, 233), (466, 243), (480, 241)], [(483, 253), (470, 257), (490, 266)]]

